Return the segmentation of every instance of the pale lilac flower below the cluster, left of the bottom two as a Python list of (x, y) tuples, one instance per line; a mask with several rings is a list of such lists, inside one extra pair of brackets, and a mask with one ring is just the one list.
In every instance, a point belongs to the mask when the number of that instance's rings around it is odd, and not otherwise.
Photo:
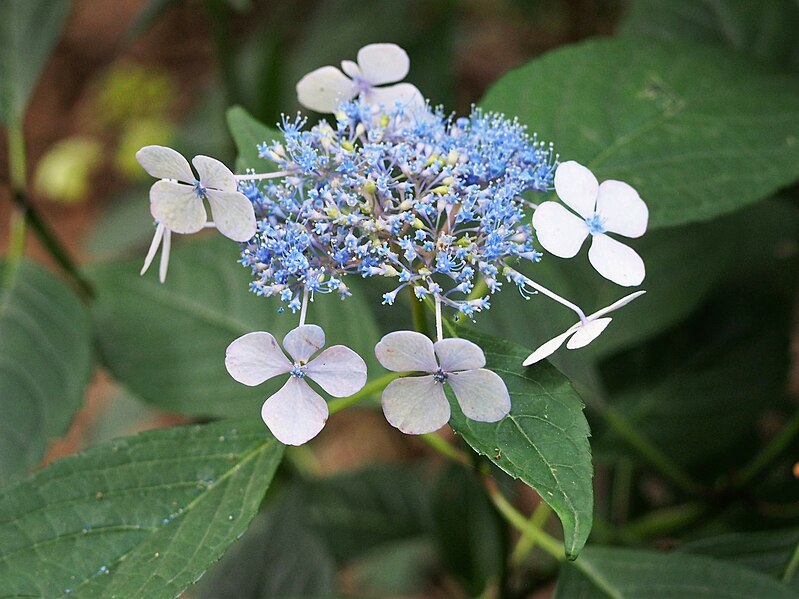
[(333, 397), (348, 397), (366, 383), (366, 364), (348, 347), (334, 345), (311, 360), (324, 345), (324, 331), (306, 324), (283, 338), (291, 361), (275, 338), (262, 331), (247, 333), (227, 348), (225, 367), (240, 383), (254, 387), (279, 374), (291, 375), (261, 408), (261, 418), (281, 443), (302, 445), (318, 435), (327, 421), (327, 403), (311, 389), (306, 376)]

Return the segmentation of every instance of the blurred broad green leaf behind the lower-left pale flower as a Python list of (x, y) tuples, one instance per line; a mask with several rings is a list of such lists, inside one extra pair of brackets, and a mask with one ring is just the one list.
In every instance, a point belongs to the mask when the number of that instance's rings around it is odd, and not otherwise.
[[(225, 348), (252, 331), (278, 339), (297, 326), (297, 315), (277, 298), (248, 291), (248, 269), (237, 264), (238, 245), (221, 236), (176, 247), (166, 283), (139, 276), (140, 259), (96, 265), (90, 274), (97, 298), (93, 318), (103, 362), (136, 395), (184, 414), (235, 417), (258, 414), (285, 379), (252, 388), (225, 370)], [(377, 326), (361, 297), (345, 301), (318, 294), (308, 321), (320, 325), (327, 345), (341, 343), (376, 369)]]

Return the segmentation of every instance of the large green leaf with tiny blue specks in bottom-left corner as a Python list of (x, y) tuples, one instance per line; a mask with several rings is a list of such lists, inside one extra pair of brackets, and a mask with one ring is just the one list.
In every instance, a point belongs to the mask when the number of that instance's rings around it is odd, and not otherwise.
[(0, 493), (5, 597), (177, 597), (245, 531), (283, 454), (260, 419), (65, 458)]

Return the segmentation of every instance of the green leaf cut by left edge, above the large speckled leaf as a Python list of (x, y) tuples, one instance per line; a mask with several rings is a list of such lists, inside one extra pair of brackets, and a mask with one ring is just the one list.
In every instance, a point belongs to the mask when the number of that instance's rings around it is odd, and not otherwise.
[(27, 260), (0, 266), (2, 484), (41, 462), (66, 432), (83, 403), (92, 339), (89, 311), (58, 277)]

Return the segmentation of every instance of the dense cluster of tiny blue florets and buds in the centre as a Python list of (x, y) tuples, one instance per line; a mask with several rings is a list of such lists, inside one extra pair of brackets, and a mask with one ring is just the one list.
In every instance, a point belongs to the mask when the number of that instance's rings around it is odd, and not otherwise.
[(394, 280), (384, 303), (410, 286), (471, 317), (489, 307), (470, 297), (478, 273), (493, 293), (506, 261), (539, 260), (524, 196), (552, 188), (557, 157), (518, 121), (359, 101), (335, 117), (284, 117), (283, 142), (259, 148), (283, 176), (240, 186), (258, 220), (241, 260), (252, 291), (296, 310), (304, 290), (343, 297), (346, 275), (380, 276)]

